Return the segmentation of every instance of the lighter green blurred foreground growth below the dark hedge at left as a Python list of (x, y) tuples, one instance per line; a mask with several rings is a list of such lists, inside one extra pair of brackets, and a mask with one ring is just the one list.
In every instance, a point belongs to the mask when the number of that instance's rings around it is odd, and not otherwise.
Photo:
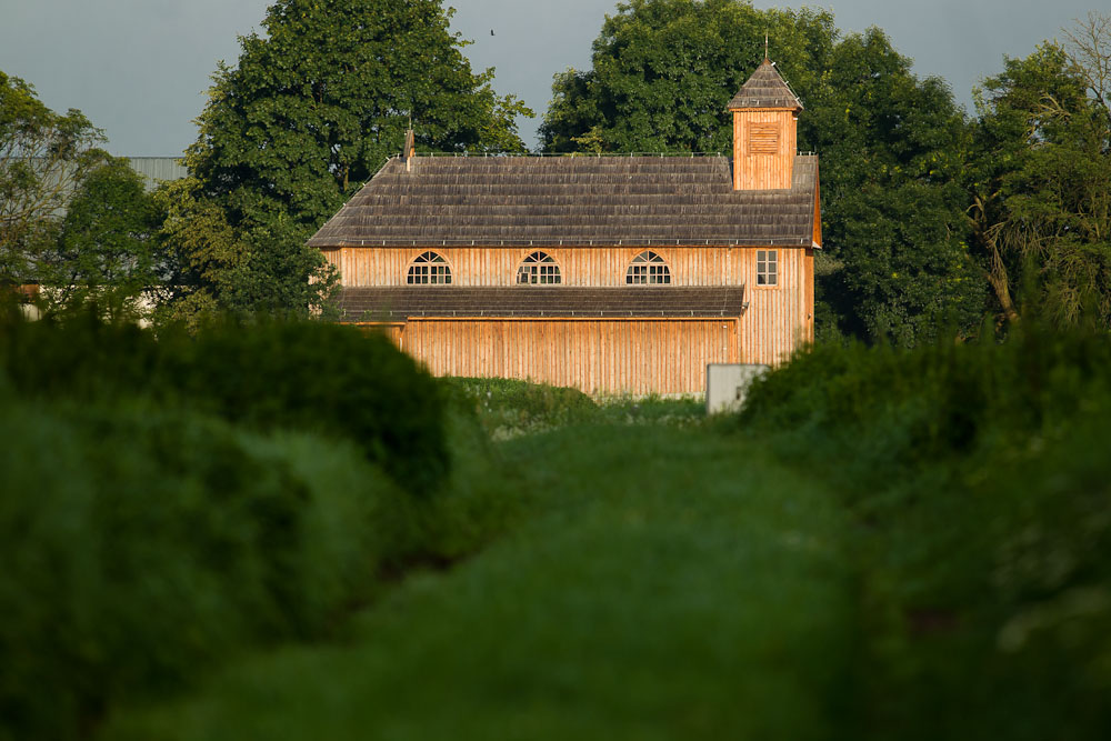
[(4, 399), (0, 738), (80, 738), (113, 703), (324, 631), (404, 499), (360, 458), (141, 404)]

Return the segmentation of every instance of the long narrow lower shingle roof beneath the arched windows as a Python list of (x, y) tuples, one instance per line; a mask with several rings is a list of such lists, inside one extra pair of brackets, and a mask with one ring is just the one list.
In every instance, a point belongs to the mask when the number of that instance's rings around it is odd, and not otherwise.
[(737, 317), (743, 286), (420, 286), (344, 288), (342, 321), (402, 321), (410, 317)]

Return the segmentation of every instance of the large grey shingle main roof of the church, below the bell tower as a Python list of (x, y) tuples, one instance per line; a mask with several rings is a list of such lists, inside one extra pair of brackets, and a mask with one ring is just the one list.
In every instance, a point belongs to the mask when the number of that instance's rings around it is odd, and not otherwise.
[[(774, 72), (774, 70), (773, 70)], [(725, 157), (391, 159), (309, 246), (800, 244), (818, 158), (792, 187), (732, 189)]]

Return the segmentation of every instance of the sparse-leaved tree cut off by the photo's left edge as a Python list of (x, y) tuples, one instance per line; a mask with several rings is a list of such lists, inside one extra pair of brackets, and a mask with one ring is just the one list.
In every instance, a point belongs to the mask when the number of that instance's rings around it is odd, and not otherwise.
[(80, 111), (59, 114), (0, 72), (0, 283), (38, 280), (74, 189), (100, 164), (103, 134)]

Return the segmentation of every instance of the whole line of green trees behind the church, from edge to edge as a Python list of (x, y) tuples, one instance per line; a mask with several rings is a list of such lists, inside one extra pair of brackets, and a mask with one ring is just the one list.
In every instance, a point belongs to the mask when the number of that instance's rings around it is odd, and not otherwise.
[[(476, 73), (440, 0), (280, 0), (214, 74), (190, 176), (144, 194), (78, 111), (0, 77), (0, 282), (44, 309), (194, 321), (306, 313), (336, 276), (306, 239), (412, 122), (439, 151), (524, 151), (492, 70)], [(1047, 29), (1052, 36), (1057, 29)], [(877, 28), (745, 0), (631, 0), (588, 70), (557, 74), (546, 152), (727, 152), (725, 106), (771, 56), (821, 156), (818, 333), (900, 346), (1037, 311), (1111, 320), (1111, 19), (1092, 13), (1002, 60), (965, 112)], [(67, 208), (68, 207), (68, 208)], [(144, 301), (139, 301), (144, 298)]]

